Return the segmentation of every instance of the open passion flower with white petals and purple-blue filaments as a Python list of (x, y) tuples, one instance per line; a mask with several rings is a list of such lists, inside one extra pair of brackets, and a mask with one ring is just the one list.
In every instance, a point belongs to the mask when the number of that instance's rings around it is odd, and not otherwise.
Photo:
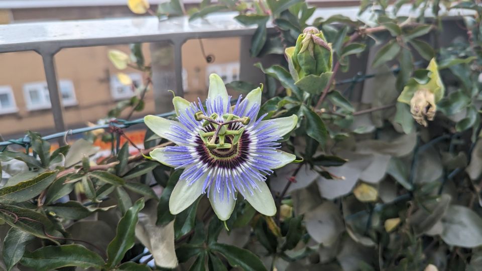
[(261, 91), (254, 89), (231, 106), (221, 78), (211, 74), (206, 108), (200, 100), (174, 97), (179, 121), (154, 115), (144, 118), (152, 131), (177, 145), (150, 153), (164, 165), (184, 169), (169, 199), (172, 214), (182, 212), (204, 193), (221, 220), (230, 217), (239, 195), (264, 215), (276, 213), (266, 175), (295, 160), (294, 155), (277, 150), (277, 141), (295, 127), (298, 117), (257, 119)]

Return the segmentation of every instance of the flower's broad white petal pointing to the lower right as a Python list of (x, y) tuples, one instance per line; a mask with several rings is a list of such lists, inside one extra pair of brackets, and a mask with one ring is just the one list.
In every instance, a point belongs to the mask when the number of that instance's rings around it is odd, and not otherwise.
[(268, 185), (263, 181), (257, 182), (259, 189), (253, 189), (253, 195), (249, 191), (244, 192), (246, 200), (258, 212), (273, 216), (276, 214), (276, 205), (273, 196), (271, 195)]

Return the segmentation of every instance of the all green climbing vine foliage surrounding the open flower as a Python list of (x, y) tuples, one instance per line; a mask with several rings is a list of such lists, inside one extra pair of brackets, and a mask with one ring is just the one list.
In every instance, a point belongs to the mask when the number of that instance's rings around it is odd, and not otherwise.
[[(150, 270), (140, 261), (147, 247), (154, 268), (480, 270), (482, 10), (470, 1), (415, 1), (417, 16), (398, 16), (406, 3), (364, 0), (365, 19), (351, 20), (313, 18), (315, 8), (296, 0), (203, 1), (187, 12), (191, 20), (235, 10), (238, 22), (257, 26), (252, 56), (281, 60), (253, 68), (267, 78), (260, 115), (298, 115), (280, 142), (303, 159), (268, 180), (276, 215), (257, 213), (240, 196), (225, 223), (205, 197), (172, 215), (168, 202), (181, 170), (144, 158), (169, 144), (150, 130), (135, 156), (129, 143), (116, 143), (122, 130), (101, 132), (112, 155), (97, 163), (87, 159), (96, 152), (88, 141), (51, 152), (30, 132), (26, 152), (0, 153), (12, 175), (0, 189), (2, 268)], [(425, 18), (430, 9), (433, 18)], [(434, 41), (444, 34), (447, 9), (474, 13), (460, 25), (465, 38), (440, 47)], [(185, 13), (173, 0), (157, 15)], [(360, 102), (351, 95), (360, 77), (342, 89), (335, 76), (369, 50), (377, 75), (363, 79), (373, 100)], [(110, 55), (119, 68), (150, 72), (139, 46), (129, 58)], [(257, 83), (228, 86), (247, 93)], [(109, 117), (141, 103), (138, 97)]]

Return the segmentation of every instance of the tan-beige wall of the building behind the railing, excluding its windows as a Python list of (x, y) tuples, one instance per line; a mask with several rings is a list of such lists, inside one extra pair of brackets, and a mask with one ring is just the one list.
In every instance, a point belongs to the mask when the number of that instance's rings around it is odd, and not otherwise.
[[(227, 38), (203, 40), (206, 54), (213, 54), (213, 64), (239, 61), (239, 39)], [(106, 116), (116, 101), (110, 94), (109, 77), (118, 71), (107, 59), (109, 49), (129, 52), (128, 46), (90, 47), (64, 49), (56, 55), (59, 79), (69, 79), (74, 84), (77, 105), (65, 108), (64, 119), (67, 128), (84, 126), (87, 121), (95, 122)], [(187, 71), (188, 91), (186, 98), (194, 100), (206, 95), (205, 68), (208, 65), (202, 56), (198, 40), (184, 44), (183, 67)], [(146, 63), (150, 62), (149, 46), (144, 45)], [(6, 139), (19, 135), (27, 129), (53, 132), (53, 117), (50, 109), (27, 110), (23, 85), (28, 82), (45, 81), (41, 57), (35, 52), (17, 52), (0, 54), (0, 85), (10, 85), (19, 111), (0, 114), (0, 134)], [(135, 72), (127, 69), (124, 72)], [(165, 91), (165, 90), (162, 90)], [(146, 95), (144, 112), (140, 117), (154, 112), (152, 91)], [(125, 115), (124, 115), (125, 116)], [(11, 135), (11, 136), (10, 136)]]

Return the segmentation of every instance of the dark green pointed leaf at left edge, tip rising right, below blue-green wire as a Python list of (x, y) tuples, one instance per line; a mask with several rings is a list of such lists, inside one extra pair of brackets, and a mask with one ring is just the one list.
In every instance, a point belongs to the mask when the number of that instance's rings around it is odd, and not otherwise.
[(30, 180), (0, 189), (0, 202), (23, 202), (39, 195), (54, 180), (57, 171), (47, 171)]

